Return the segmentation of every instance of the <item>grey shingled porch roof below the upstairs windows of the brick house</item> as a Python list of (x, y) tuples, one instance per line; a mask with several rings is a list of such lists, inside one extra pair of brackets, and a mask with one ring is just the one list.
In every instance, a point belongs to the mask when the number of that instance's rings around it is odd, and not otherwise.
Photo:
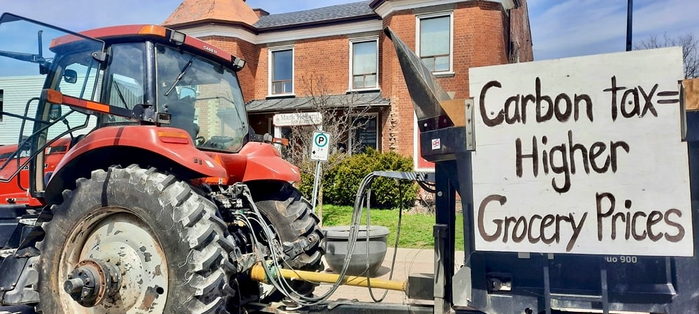
[[(391, 100), (383, 98), (380, 91), (358, 94), (343, 94), (319, 96), (316, 98), (319, 101), (324, 100), (323, 105), (327, 107), (347, 107), (352, 104), (354, 106), (387, 106), (391, 105)], [(262, 100), (252, 100), (247, 103), (247, 112), (277, 112), (277, 111), (294, 111), (294, 110), (310, 110), (316, 107), (316, 102), (312, 101), (313, 97), (294, 97), (294, 98), (270, 98)]]

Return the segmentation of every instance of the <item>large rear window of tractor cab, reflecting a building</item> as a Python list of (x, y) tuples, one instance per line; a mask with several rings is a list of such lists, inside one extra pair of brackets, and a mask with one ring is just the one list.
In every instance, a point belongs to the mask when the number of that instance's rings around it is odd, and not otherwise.
[(157, 46), (157, 104), (172, 114), (196, 147), (238, 151), (247, 139), (247, 116), (233, 70), (194, 54)]

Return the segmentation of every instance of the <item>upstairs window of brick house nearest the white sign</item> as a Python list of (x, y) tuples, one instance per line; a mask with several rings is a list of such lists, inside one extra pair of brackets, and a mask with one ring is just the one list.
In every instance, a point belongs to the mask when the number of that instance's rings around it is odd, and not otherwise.
[(452, 70), (452, 13), (417, 17), (420, 59), (432, 72)]

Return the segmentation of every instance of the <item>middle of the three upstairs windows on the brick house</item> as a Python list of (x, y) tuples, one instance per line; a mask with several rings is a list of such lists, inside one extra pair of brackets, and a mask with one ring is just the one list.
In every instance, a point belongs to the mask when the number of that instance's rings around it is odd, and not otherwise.
[(378, 40), (353, 40), (349, 42), (350, 89), (375, 89), (378, 87)]

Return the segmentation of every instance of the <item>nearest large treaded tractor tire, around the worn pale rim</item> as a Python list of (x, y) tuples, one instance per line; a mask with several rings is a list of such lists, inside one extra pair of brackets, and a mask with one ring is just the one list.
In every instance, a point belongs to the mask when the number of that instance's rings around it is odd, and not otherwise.
[[(166, 267), (164, 282), (167, 287), (158, 288), (155, 294), (146, 292), (144, 296), (137, 289), (124, 291), (127, 286), (136, 286), (137, 283), (122, 281), (122, 289), (115, 297), (97, 305), (99, 311), (227, 313), (226, 302), (231, 291), (228, 283), (233, 270), (226, 265), (229, 265), (227, 256), (234, 244), (226, 224), (217, 217), (215, 204), (192, 190), (189, 184), (172, 175), (157, 172), (154, 168), (145, 170), (136, 165), (126, 169), (111, 167), (108, 171), (95, 170), (91, 178), (79, 179), (75, 190), (66, 190), (64, 202), (52, 207), (52, 213), (50, 222), (43, 225), (46, 235), (40, 243), (38, 291), (41, 297), (37, 311), (53, 314), (92, 310), (81, 308), (63, 290), (68, 275), (66, 271), (72, 270), (76, 259), (66, 253), (87, 250), (90, 254), (107, 254), (83, 248), (81, 239), (85, 244), (89, 237), (87, 234), (98, 228), (93, 226), (111, 223), (110, 220), (115, 217), (127, 216), (134, 219), (134, 228), (150, 230), (150, 236), (161, 249), (159, 254), (163, 261), (157, 265), (158, 271), (143, 276), (137, 274), (136, 267), (128, 269), (124, 262), (120, 269), (124, 273), (136, 269), (134, 274), (128, 275), (147, 281), (151, 276), (156, 277), (155, 273), (159, 272), (160, 267)], [(128, 219), (125, 220), (127, 226)], [(119, 241), (115, 243), (119, 244)], [(108, 246), (104, 248), (107, 250)], [(154, 253), (158, 252), (149, 254)], [(144, 263), (141, 271), (152, 267), (147, 264), (150, 257), (140, 258)], [(115, 262), (114, 258), (112, 262)], [(139, 287), (147, 285), (148, 282), (138, 283)], [(148, 292), (152, 290), (149, 287)], [(126, 301), (119, 299), (124, 298), (122, 294), (134, 294), (140, 299), (136, 299), (136, 305), (126, 308)]]

